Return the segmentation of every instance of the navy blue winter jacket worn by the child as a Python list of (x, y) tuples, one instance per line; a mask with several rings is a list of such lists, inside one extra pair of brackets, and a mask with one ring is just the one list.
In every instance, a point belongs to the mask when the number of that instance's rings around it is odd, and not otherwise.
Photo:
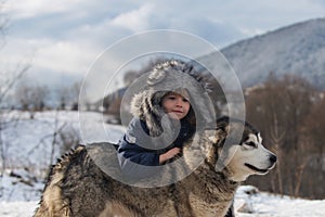
[[(195, 127), (191, 126), (185, 119), (181, 120), (181, 128), (179, 135), (176, 135), (176, 140), (166, 144), (162, 140), (153, 141), (148, 136), (146, 124), (140, 118), (134, 117), (129, 128), (119, 141), (118, 159), (123, 174), (132, 176), (139, 173), (146, 174), (146, 171), (138, 171), (136, 165), (143, 166), (159, 166), (159, 155), (166, 153), (172, 148), (181, 148), (195, 132)], [(168, 163), (172, 162), (169, 161)], [(135, 165), (136, 164), (136, 165)], [(143, 169), (143, 167), (141, 167)]]

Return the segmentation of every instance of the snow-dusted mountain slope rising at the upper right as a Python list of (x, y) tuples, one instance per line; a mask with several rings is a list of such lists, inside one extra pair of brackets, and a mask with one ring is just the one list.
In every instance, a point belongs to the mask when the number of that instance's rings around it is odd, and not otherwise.
[[(325, 89), (325, 18), (310, 20), (233, 43), (221, 50), (243, 87), (295, 74)], [(209, 59), (211, 54), (202, 56)], [(212, 62), (210, 61), (210, 64)]]

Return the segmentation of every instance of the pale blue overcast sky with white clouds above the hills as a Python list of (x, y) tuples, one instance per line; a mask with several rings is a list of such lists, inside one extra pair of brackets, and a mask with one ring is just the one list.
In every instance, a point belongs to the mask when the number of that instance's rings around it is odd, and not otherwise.
[[(10, 0), (1, 14), (1, 69), (31, 63), (41, 82), (82, 78), (107, 47), (133, 34), (176, 29), (218, 49), (297, 22), (324, 17), (324, 0)], [(10, 72), (9, 69), (5, 69)]]

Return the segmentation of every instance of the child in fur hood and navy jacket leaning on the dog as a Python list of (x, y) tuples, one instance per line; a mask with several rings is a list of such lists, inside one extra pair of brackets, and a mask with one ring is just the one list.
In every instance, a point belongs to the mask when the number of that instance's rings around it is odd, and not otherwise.
[[(152, 176), (156, 170), (150, 167), (182, 156), (183, 144), (196, 130), (192, 98), (198, 95), (197, 102), (204, 99), (202, 86), (181, 62), (157, 65), (146, 84), (147, 87), (132, 99), (134, 117), (118, 148), (122, 173), (131, 177)], [(200, 119), (207, 118), (203, 116)]]

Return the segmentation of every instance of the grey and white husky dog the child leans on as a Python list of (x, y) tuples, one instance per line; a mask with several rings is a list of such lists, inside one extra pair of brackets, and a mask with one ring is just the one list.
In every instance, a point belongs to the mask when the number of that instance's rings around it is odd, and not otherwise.
[[(227, 142), (236, 133), (239, 142)], [(218, 119), (216, 129), (206, 130), (193, 142), (205, 154), (202, 164), (184, 179), (158, 188), (126, 184), (104, 173), (93, 156), (109, 158), (110, 169), (118, 174), (112, 144), (78, 146), (52, 167), (35, 217), (223, 217), (239, 183), (250, 175), (266, 174), (276, 162), (262, 145), (260, 133), (242, 120)], [(188, 167), (196, 157), (191, 146), (183, 149)]]

